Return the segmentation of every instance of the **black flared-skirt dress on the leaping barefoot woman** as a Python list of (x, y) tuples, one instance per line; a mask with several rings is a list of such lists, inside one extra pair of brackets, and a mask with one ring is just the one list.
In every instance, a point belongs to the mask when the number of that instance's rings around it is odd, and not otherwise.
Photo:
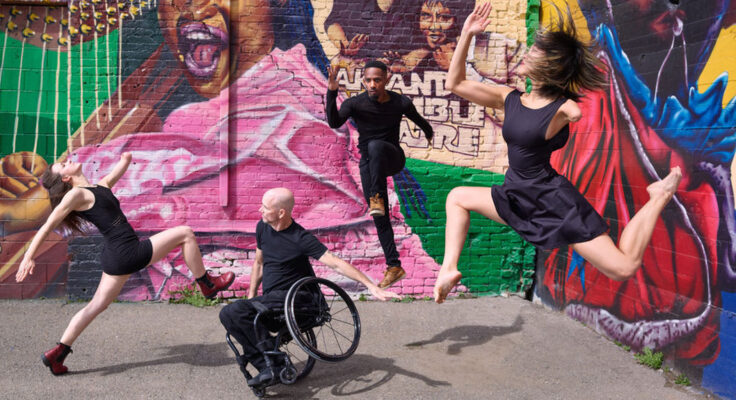
[(508, 145), (509, 170), (491, 195), (498, 215), (521, 237), (537, 247), (553, 249), (594, 239), (608, 231), (605, 220), (549, 163), (553, 151), (570, 136), (565, 125), (546, 140), (547, 127), (567, 101), (560, 98), (539, 108), (521, 104), (521, 92), (506, 96), (503, 138)]

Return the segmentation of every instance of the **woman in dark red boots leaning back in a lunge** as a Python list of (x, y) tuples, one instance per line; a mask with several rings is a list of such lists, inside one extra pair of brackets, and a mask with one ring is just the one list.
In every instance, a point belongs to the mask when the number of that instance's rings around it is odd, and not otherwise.
[(41, 177), (49, 192), (53, 211), (33, 237), (15, 275), (16, 281), (23, 281), (33, 274), (33, 258), (39, 246), (59, 224), (81, 232), (82, 220), (89, 221), (105, 240), (101, 255), (102, 278), (92, 301), (74, 315), (59, 344), (41, 356), (54, 375), (67, 372), (64, 359), (71, 352), (70, 346), (87, 325), (117, 298), (130, 275), (161, 260), (175, 248), (182, 248), (184, 262), (206, 297), (215, 297), (235, 279), (232, 272), (215, 276), (205, 270), (194, 232), (188, 226), (167, 229), (149, 239), (138, 239), (110, 190), (128, 169), (130, 159), (130, 153), (123, 153), (112, 172), (96, 185), (89, 183), (80, 163), (71, 161), (51, 165)]

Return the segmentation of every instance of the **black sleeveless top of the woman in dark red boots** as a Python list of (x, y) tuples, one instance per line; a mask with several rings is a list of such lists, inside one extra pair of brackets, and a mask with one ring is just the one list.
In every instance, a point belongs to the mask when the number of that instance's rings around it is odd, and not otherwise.
[(95, 204), (89, 210), (79, 211), (79, 215), (96, 226), (108, 243), (138, 240), (138, 235), (120, 209), (120, 202), (109, 188), (99, 185), (83, 188), (92, 192)]

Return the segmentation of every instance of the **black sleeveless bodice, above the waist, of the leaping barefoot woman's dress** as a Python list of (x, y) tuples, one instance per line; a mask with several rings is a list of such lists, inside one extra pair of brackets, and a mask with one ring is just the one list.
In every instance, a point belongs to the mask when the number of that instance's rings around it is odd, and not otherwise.
[(550, 156), (567, 143), (570, 127), (565, 125), (550, 140), (545, 135), (549, 123), (565, 101), (567, 99), (559, 98), (542, 108), (528, 108), (521, 104), (518, 90), (506, 96), (502, 133), (508, 144), (509, 167), (515, 172), (526, 175), (552, 169)]

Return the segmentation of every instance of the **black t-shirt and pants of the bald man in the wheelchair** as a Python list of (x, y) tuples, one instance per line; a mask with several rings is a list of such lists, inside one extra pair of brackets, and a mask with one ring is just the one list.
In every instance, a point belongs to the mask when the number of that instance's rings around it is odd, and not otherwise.
[[(294, 282), (306, 276), (314, 276), (308, 257), (321, 258), (327, 252), (327, 247), (296, 221), (282, 231), (276, 231), (263, 221), (258, 221), (256, 245), (263, 256), (263, 295), (225, 306), (220, 311), (220, 321), (243, 346), (246, 359), (262, 371), (266, 367), (263, 351), (273, 350), (273, 343), (268, 340), (259, 343), (257, 337), (270, 338), (269, 331), (278, 331), (283, 326), (283, 321), (265, 318), (264, 324), (254, 326), (253, 321), (258, 311), (252, 302), (258, 301), (269, 310), (278, 310), (274, 315), (281, 314), (286, 293)], [(304, 295), (295, 301), (297, 304), (317, 304), (318, 299), (321, 297)]]

